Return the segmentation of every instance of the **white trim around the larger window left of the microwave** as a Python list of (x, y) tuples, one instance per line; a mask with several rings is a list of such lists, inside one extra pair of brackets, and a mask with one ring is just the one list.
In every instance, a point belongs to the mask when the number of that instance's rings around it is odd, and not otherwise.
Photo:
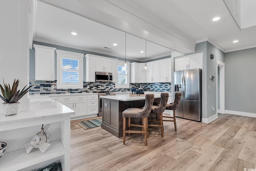
[[(76, 53), (76, 52), (70, 52), (70, 51), (62, 51), (57, 49), (57, 88), (58, 89), (75, 89), (75, 88), (83, 88), (83, 59), (84, 54), (83, 53)], [(70, 85), (70, 84), (62, 84), (62, 58), (67, 59), (75, 59), (78, 60), (78, 75), (79, 75), (79, 83)]]

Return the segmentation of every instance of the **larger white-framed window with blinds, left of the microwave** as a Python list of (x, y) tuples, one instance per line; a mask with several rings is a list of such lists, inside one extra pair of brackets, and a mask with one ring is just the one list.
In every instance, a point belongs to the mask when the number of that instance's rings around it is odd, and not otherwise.
[(56, 50), (57, 88), (83, 88), (82, 53)]

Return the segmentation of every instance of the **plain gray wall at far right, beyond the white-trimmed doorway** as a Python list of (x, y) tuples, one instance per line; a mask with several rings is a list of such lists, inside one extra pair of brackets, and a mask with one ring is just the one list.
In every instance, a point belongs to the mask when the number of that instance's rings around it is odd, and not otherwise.
[(256, 113), (256, 48), (225, 53), (225, 109)]

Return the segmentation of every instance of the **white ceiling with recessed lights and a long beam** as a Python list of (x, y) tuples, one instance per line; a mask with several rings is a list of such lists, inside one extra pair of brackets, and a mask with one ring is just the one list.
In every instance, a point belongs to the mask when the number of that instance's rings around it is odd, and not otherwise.
[[(168, 48), (189, 53), (195, 43), (206, 40), (224, 52), (256, 47), (256, 27), (241, 30), (222, 0), (41, 1), (36, 10), (36, 41), (124, 57), (127, 32), (136, 36), (127, 34), (126, 57), (140, 61), (145, 57), (140, 53), (145, 51), (144, 39), (147, 59), (170, 55)], [(255, 3), (248, 8), (252, 9), (256, 11)], [(216, 16), (220, 20), (213, 22)], [(71, 35), (72, 31), (78, 35)], [(235, 39), (238, 43), (232, 43)]]

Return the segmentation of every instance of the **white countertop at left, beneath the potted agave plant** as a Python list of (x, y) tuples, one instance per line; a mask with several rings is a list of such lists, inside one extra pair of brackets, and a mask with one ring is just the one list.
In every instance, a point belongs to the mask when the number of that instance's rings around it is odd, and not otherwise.
[(74, 110), (50, 98), (30, 99), (30, 110), (18, 112), (14, 116), (0, 114), (0, 126), (16, 122), (40, 120), (74, 114)]

